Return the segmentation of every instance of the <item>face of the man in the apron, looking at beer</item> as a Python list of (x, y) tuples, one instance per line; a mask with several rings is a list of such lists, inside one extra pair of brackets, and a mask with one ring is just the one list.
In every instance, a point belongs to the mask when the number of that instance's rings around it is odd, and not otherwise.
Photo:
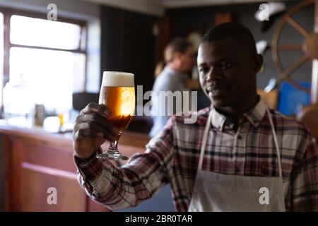
[[(258, 57), (258, 56), (257, 56)], [(198, 51), (201, 88), (215, 107), (237, 107), (256, 95), (255, 57), (235, 38), (204, 42)]]

